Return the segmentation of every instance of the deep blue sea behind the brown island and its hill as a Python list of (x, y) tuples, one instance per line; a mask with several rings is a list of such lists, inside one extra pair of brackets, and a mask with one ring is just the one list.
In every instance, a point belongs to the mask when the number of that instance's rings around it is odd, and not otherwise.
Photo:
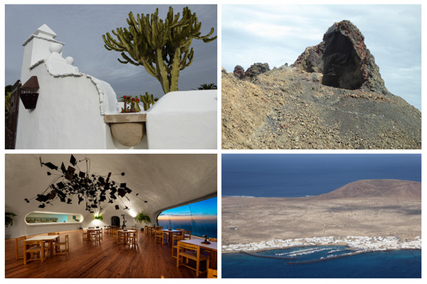
[(421, 182), (420, 154), (223, 154), (222, 195), (302, 197), (371, 179)]

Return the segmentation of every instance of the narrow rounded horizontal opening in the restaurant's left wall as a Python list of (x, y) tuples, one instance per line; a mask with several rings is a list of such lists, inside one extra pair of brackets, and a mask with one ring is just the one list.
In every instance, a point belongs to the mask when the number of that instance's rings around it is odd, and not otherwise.
[(69, 224), (83, 222), (83, 216), (75, 213), (30, 212), (25, 217), (28, 225), (34, 224)]

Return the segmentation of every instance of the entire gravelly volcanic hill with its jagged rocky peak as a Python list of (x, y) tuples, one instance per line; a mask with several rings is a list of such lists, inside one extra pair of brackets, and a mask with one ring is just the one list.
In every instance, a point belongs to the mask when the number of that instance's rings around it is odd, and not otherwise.
[(349, 21), (293, 65), (269, 69), (222, 70), (222, 148), (421, 148), (421, 112), (387, 91)]

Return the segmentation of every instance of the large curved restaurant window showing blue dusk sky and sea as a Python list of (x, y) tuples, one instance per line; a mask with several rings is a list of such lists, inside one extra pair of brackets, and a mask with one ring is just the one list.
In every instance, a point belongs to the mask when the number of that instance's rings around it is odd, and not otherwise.
[(186, 229), (192, 236), (216, 238), (216, 197), (165, 210), (157, 217), (159, 226)]

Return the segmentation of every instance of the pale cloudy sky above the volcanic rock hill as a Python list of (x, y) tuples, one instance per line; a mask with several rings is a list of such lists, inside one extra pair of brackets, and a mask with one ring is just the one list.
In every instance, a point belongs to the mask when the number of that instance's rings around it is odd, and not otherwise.
[(342, 20), (364, 35), (389, 92), (421, 110), (421, 5), (222, 5), (221, 65), (292, 64)]

